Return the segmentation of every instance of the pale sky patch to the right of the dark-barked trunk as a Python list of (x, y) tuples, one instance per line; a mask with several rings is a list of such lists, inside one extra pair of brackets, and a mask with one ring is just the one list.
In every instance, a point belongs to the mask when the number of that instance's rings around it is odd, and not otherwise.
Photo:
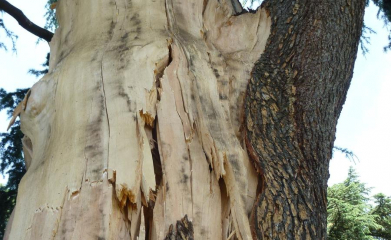
[[(359, 158), (354, 165), (361, 181), (373, 187), (372, 194), (391, 195), (391, 51), (387, 29), (376, 18), (377, 8), (366, 9), (365, 24), (371, 35), (366, 57), (359, 52), (347, 100), (337, 125), (335, 146), (352, 150)], [(352, 163), (335, 153), (330, 164), (329, 185), (343, 181)]]

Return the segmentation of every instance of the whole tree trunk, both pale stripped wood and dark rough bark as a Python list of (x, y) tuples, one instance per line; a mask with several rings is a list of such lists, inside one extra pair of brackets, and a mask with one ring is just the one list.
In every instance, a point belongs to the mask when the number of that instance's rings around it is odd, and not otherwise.
[(325, 239), (364, 5), (60, 0), (6, 238)]

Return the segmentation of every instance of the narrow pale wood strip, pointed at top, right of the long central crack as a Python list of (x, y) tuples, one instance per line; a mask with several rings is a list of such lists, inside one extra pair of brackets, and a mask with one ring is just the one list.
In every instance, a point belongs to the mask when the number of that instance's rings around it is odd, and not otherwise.
[(157, 134), (160, 139), (158, 145), (164, 174), (164, 214), (168, 230), (169, 225), (181, 216), (189, 214), (192, 217), (191, 166), (182, 121), (175, 108), (175, 95), (181, 93), (174, 92), (166, 74), (160, 79), (160, 85)]

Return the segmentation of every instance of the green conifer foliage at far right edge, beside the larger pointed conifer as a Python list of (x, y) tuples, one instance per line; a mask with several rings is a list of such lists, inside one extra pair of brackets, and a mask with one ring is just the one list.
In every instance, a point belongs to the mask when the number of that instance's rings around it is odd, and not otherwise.
[(391, 240), (391, 197), (379, 193), (373, 196), (375, 207), (371, 213), (378, 216), (377, 223), (382, 228), (370, 228), (371, 235), (377, 239)]

